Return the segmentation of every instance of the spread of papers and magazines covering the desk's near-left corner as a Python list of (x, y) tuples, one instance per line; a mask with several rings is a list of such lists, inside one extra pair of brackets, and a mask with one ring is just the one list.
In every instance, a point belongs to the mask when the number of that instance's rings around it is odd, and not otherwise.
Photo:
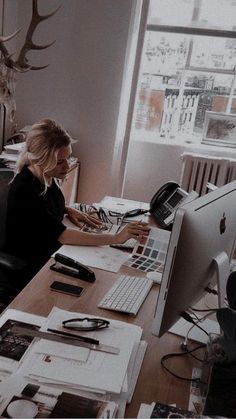
[[(23, 322), (42, 332), (48, 328), (63, 330), (62, 321), (72, 317), (93, 316), (54, 307), (44, 318), (9, 309), (0, 318), (0, 334), (4, 339), (7, 331), (8, 338), (14, 338), (8, 328), (11, 322)], [(32, 340), (26, 334), (8, 342), (9, 353), (0, 355), (1, 417), (20, 417), (19, 409), (23, 409), (24, 417), (124, 417), (147, 344), (141, 340), (139, 326), (109, 322), (106, 329), (78, 333), (119, 348), (118, 355), (43, 338)], [(12, 357), (15, 348), (17, 359)], [(83, 406), (87, 416), (83, 410), (80, 413)], [(78, 408), (79, 411), (74, 410)], [(95, 410), (91, 413), (90, 409)]]

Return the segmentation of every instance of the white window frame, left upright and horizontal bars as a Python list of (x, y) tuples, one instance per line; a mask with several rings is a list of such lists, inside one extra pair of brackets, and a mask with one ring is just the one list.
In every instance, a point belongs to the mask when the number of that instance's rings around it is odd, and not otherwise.
[[(198, 0), (197, 0), (198, 1)], [(128, 162), (128, 155), (129, 155), (129, 148), (131, 142), (135, 139), (135, 135), (131, 133), (132, 131), (132, 122), (134, 117), (134, 110), (135, 110), (135, 101), (138, 89), (138, 82), (139, 82), (139, 72), (141, 66), (141, 59), (142, 59), (142, 52), (144, 46), (144, 39), (147, 30), (152, 31), (162, 31), (162, 32), (169, 32), (173, 33), (176, 31), (177, 33), (184, 33), (189, 35), (199, 35), (199, 36), (214, 36), (214, 37), (223, 37), (223, 38), (233, 38), (236, 39), (236, 32), (229, 31), (229, 30), (218, 30), (218, 29), (207, 29), (207, 28), (196, 28), (196, 27), (175, 27), (175, 26), (168, 26), (168, 25), (160, 25), (160, 24), (153, 24), (148, 23), (148, 12), (149, 12), (150, 0), (135, 0), (133, 2), (133, 9), (134, 14), (136, 16), (135, 19), (130, 24), (129, 29), (129, 40), (127, 45), (127, 62), (124, 68), (124, 80), (122, 85), (121, 91), (121, 98), (120, 98), (120, 112), (118, 117), (118, 125), (117, 125), (117, 133), (115, 139), (115, 147), (114, 147), (114, 155), (112, 161), (112, 184), (113, 184), (113, 194), (114, 196), (123, 196), (125, 183), (126, 183), (126, 174), (127, 174), (127, 162)], [(139, 25), (138, 35), (136, 36), (135, 41), (133, 42), (134, 48), (131, 51), (130, 39), (133, 39), (133, 33), (135, 31), (135, 27)], [(131, 61), (131, 65), (130, 65)], [(127, 68), (131, 66), (132, 77), (127, 77)], [(198, 67), (190, 67), (190, 71), (198, 71), (201, 72), (209, 72), (212, 69), (210, 68), (198, 68)], [(223, 73), (222, 70), (214, 69), (215, 73)], [(236, 78), (236, 71), (227, 70), (224, 71), (224, 74), (235, 75)], [(128, 89), (127, 89), (128, 86)], [(127, 95), (128, 91), (128, 95)], [(128, 100), (127, 100), (128, 96)], [(232, 95), (231, 95), (232, 96)], [(236, 96), (236, 95), (235, 95)], [(228, 101), (229, 103), (229, 101)], [(138, 141), (138, 140), (137, 140)], [(154, 141), (149, 138), (145, 138), (144, 140), (147, 143), (153, 143)], [(161, 144), (162, 146), (165, 145), (163, 141), (155, 140), (155, 144)], [(170, 142), (167, 142), (167, 146), (170, 145)], [(189, 146), (193, 146), (194, 149), (199, 149), (199, 144), (191, 144), (191, 143), (180, 143), (178, 141), (172, 142), (172, 145), (175, 147), (181, 147), (182, 150), (189, 149)], [(202, 144), (201, 149), (206, 149), (207, 146)], [(208, 148), (209, 150), (209, 148)]]

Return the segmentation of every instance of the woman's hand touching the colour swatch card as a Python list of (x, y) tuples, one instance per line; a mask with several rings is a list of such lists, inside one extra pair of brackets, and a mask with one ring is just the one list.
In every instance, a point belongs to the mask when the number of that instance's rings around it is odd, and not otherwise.
[(149, 231), (148, 223), (128, 223), (119, 233), (114, 235), (114, 243), (112, 244), (122, 244), (129, 239), (141, 240), (143, 237), (148, 236)]

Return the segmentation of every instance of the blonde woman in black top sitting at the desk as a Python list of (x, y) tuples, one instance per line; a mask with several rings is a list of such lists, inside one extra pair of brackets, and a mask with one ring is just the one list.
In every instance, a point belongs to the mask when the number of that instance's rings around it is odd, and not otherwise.
[(38, 272), (63, 244), (111, 245), (148, 233), (146, 223), (130, 223), (116, 234), (94, 234), (63, 224), (65, 214), (77, 226), (101, 224), (91, 214), (65, 206), (59, 187), (69, 170), (72, 139), (54, 121), (34, 124), (19, 156), (8, 195), (5, 250), (27, 262), (19, 289)]

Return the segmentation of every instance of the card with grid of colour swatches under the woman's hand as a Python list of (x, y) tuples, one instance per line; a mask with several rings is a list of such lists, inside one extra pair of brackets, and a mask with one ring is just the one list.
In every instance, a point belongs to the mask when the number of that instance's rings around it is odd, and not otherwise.
[(170, 231), (152, 227), (149, 235), (137, 242), (132, 256), (124, 265), (140, 269), (143, 272), (162, 272), (169, 240)]

